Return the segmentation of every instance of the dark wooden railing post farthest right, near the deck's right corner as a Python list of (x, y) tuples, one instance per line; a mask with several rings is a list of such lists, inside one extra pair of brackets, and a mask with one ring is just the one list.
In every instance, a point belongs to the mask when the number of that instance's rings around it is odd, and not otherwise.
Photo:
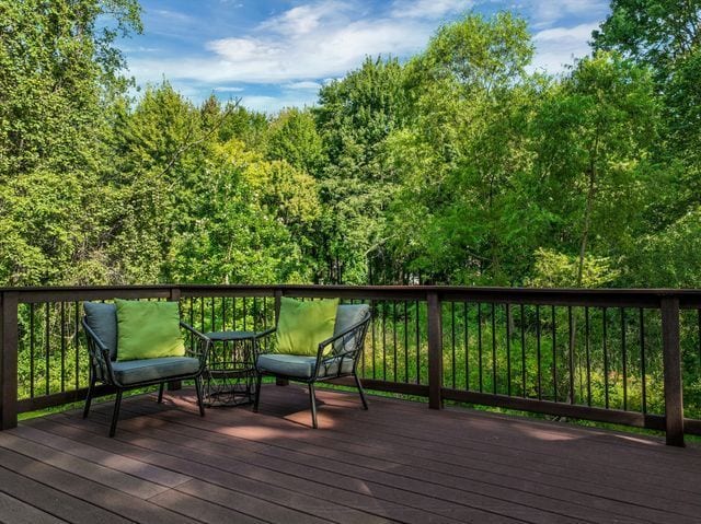
[(683, 446), (683, 399), (679, 349), (679, 299), (665, 296), (660, 303), (665, 374), (665, 429), (667, 445)]

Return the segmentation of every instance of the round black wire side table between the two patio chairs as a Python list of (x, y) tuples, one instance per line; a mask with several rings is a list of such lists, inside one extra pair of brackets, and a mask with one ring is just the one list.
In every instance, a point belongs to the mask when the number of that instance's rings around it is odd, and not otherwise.
[(256, 331), (212, 331), (203, 395), (208, 407), (251, 404), (255, 394)]

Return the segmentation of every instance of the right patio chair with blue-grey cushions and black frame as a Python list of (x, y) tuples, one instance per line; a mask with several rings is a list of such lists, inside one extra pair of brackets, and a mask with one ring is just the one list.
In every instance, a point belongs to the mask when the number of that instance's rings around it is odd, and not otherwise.
[[(363, 408), (368, 409), (365, 392), (357, 374), (357, 365), (363, 353), (369, 322), (370, 308), (367, 304), (341, 304), (336, 311), (333, 336), (319, 343), (315, 357), (265, 353), (258, 349), (255, 360), (257, 385), (253, 410), (258, 410), (263, 375), (301, 382), (309, 386), (311, 420), (314, 428), (319, 427), (314, 394), (314, 384), (317, 382), (353, 376), (360, 394)], [(273, 328), (264, 331), (261, 336), (272, 335), (275, 331), (276, 328)]]

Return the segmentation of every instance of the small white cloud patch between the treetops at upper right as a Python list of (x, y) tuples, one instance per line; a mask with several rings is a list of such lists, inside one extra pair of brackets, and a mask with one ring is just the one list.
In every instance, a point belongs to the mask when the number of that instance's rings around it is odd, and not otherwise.
[(574, 27), (553, 27), (533, 35), (536, 57), (531, 70), (550, 73), (562, 71), (562, 66), (572, 63), (574, 58), (589, 54), (587, 40), (597, 24), (581, 24)]

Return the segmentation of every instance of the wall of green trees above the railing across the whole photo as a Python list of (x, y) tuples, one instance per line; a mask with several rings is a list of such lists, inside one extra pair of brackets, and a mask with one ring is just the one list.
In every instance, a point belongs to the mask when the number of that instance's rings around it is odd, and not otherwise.
[(558, 78), (468, 14), (268, 119), (126, 96), (134, 0), (9, 4), (0, 279), (698, 286), (699, 10), (611, 9)]

